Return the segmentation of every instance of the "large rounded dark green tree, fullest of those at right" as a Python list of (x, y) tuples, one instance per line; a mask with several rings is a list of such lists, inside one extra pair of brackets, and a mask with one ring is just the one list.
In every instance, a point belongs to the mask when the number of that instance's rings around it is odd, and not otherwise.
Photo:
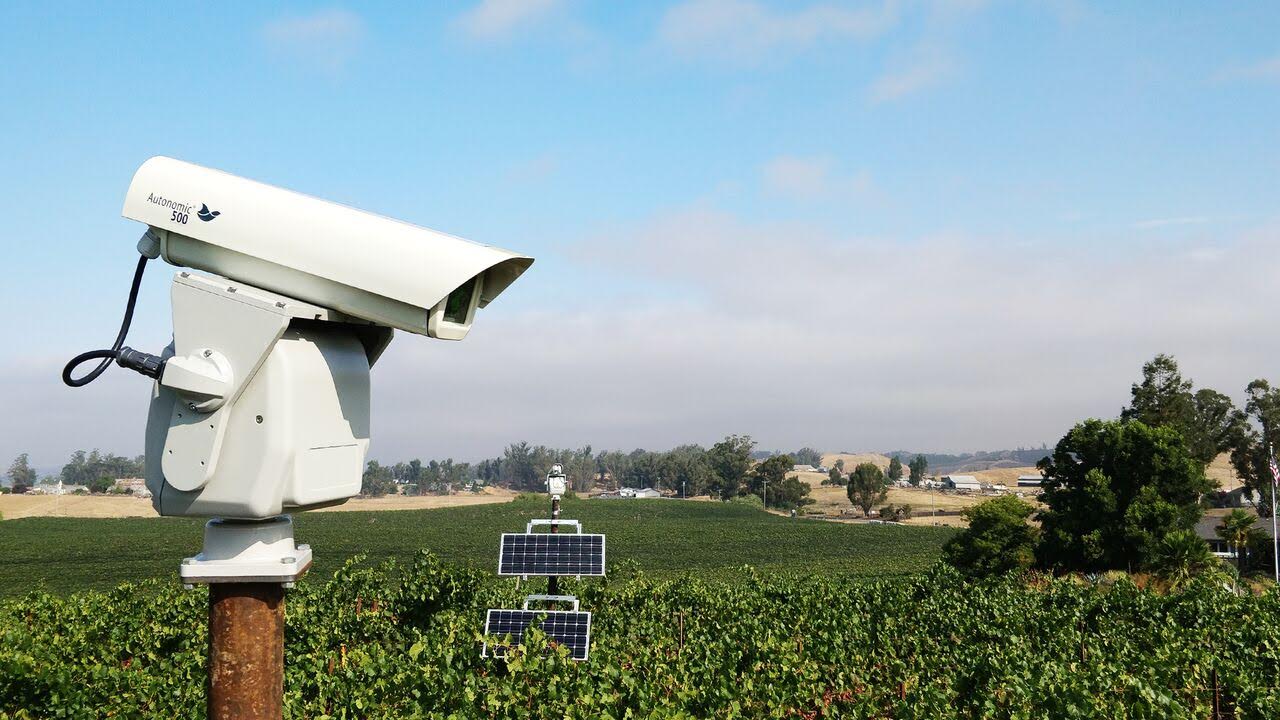
[(1213, 488), (1181, 433), (1139, 420), (1085, 420), (1039, 469), (1048, 509), (1037, 560), (1055, 570), (1148, 565), (1165, 536), (1194, 528)]

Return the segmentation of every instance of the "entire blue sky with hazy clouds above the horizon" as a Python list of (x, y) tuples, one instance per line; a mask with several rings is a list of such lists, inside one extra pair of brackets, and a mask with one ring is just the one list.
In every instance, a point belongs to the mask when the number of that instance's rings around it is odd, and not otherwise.
[(143, 378), (59, 372), (151, 155), (538, 258), (465, 342), (397, 336), (384, 460), (997, 448), (1156, 352), (1280, 380), (1280, 4), (266, 5), (0, 5), (0, 462), (141, 451)]

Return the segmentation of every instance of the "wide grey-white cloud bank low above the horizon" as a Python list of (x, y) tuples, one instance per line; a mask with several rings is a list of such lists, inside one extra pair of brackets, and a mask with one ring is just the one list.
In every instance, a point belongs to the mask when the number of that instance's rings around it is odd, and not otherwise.
[[(374, 457), (471, 460), (520, 439), (664, 448), (731, 432), (765, 447), (996, 448), (1116, 415), (1157, 352), (1236, 398), (1256, 377), (1280, 379), (1280, 337), (1258, 332), (1280, 304), (1280, 224), (1206, 252), (1167, 238), (904, 242), (692, 210), (572, 250), (581, 265), (549, 259), (521, 283), (627, 278), (641, 295), (531, 307), (517, 283), (465, 342), (397, 334), (372, 373)], [(141, 451), (141, 378), (116, 369), (69, 391), (60, 357), (9, 360), (0, 459)]]

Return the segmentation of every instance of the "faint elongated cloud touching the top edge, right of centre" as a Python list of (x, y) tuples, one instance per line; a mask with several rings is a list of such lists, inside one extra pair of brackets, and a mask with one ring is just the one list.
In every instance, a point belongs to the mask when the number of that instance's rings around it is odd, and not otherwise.
[(774, 50), (876, 38), (893, 27), (897, 15), (895, 0), (865, 8), (814, 4), (790, 10), (754, 0), (686, 0), (667, 10), (659, 36), (686, 55), (750, 61)]

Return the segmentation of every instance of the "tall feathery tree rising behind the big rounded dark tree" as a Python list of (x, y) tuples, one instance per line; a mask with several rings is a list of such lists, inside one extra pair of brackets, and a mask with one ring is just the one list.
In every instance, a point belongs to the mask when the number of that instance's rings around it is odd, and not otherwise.
[(1228, 396), (1210, 388), (1194, 389), (1170, 355), (1157, 355), (1142, 366), (1142, 382), (1130, 389), (1123, 420), (1170, 427), (1181, 433), (1188, 451), (1207, 465), (1239, 442), (1245, 418)]

